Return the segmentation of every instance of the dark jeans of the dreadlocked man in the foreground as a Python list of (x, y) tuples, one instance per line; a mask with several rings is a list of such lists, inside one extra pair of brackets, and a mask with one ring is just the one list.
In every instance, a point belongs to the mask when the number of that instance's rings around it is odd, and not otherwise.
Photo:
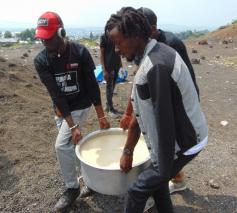
[[(170, 179), (197, 155), (181, 155), (174, 160)], [(138, 176), (137, 180), (128, 190), (125, 201), (125, 213), (143, 213), (146, 201), (150, 196), (153, 196), (159, 213), (173, 213), (169, 182), (158, 182), (158, 180), (161, 180), (159, 176), (159, 171), (154, 169), (153, 166), (144, 170)]]

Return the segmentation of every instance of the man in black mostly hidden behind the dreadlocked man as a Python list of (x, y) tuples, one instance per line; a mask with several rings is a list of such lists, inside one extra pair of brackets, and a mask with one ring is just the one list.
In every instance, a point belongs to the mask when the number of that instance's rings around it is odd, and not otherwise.
[[(187, 53), (184, 43), (179, 38), (177, 38), (172, 32), (165, 32), (161, 29), (157, 29), (157, 16), (152, 10), (150, 10), (149, 8), (141, 7), (138, 9), (138, 11), (141, 12), (143, 15), (145, 15), (149, 24), (151, 25), (151, 38), (156, 39), (158, 42), (165, 43), (166, 45), (175, 49), (180, 54), (181, 58), (183, 59), (183, 61), (188, 67), (188, 70), (191, 74), (197, 93), (199, 94), (199, 89), (196, 83), (195, 73), (194, 73), (192, 64), (190, 62), (190, 59), (188, 57), (188, 53)], [(140, 59), (136, 57), (134, 60), (134, 63), (138, 65), (140, 63)], [(128, 128), (130, 120), (131, 120), (132, 111), (133, 111), (132, 104), (131, 104), (131, 101), (129, 101), (127, 108), (125, 110), (125, 113), (120, 121), (121, 128), (123, 129)], [(186, 185), (184, 183), (183, 171), (180, 171), (172, 179), (172, 181), (169, 182), (169, 188), (170, 188), (170, 193), (186, 189)]]

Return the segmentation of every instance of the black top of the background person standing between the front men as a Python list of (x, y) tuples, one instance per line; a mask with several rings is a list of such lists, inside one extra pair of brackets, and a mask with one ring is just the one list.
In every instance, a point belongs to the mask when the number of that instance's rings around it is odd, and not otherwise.
[(114, 43), (103, 34), (100, 37), (100, 48), (104, 49), (104, 65), (105, 69), (110, 71), (118, 71), (121, 67), (121, 58), (115, 51)]

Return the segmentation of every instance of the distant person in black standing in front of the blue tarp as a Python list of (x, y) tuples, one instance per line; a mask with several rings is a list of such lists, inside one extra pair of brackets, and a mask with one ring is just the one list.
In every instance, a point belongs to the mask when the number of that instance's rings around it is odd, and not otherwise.
[(106, 81), (106, 111), (112, 117), (117, 117), (119, 112), (113, 106), (113, 93), (122, 62), (119, 54), (115, 51), (114, 43), (107, 36), (106, 29), (100, 38), (100, 61)]

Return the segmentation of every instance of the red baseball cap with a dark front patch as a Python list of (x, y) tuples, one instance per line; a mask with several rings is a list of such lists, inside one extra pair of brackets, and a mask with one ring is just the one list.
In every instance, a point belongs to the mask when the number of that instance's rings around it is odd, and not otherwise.
[(61, 18), (54, 12), (46, 12), (38, 19), (35, 38), (50, 39), (60, 27), (63, 27)]

